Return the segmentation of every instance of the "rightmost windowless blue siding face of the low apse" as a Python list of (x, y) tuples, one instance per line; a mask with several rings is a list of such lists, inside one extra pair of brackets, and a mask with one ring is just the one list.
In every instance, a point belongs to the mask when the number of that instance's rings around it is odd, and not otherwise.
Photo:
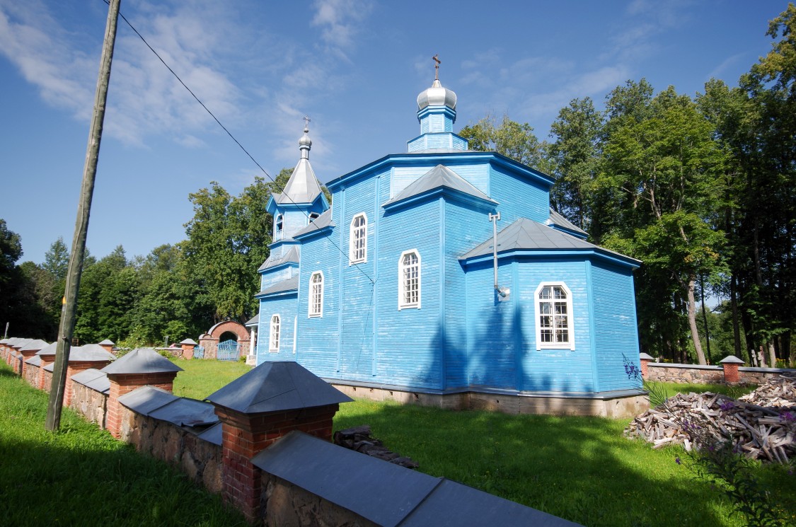
[(638, 388), (627, 378), (624, 358), (640, 367), (633, 275), (630, 270), (592, 264), (595, 353), (601, 391)]

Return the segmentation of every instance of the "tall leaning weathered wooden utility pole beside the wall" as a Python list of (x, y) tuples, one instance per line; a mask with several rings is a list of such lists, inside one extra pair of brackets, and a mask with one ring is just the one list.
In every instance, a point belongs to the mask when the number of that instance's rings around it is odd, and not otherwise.
[(66, 369), (69, 364), (69, 349), (72, 347), (72, 334), (75, 330), (75, 311), (77, 291), (80, 289), (80, 273), (83, 271), (83, 259), (88, 234), (88, 216), (92, 209), (94, 194), (94, 178), (97, 172), (97, 160), (100, 157), (100, 141), (105, 119), (105, 102), (107, 101), (107, 85), (111, 80), (111, 61), (113, 45), (116, 40), (116, 22), (119, 20), (119, 3), (121, 0), (110, 0), (105, 25), (102, 57), (100, 58), (100, 75), (94, 96), (94, 115), (88, 130), (88, 146), (86, 162), (83, 169), (83, 183), (80, 187), (80, 202), (77, 205), (77, 221), (75, 236), (72, 238), (72, 254), (69, 256), (69, 268), (66, 275), (66, 291), (63, 307), (60, 311), (58, 340), (53, 365), (53, 383), (50, 385), (49, 404), (45, 428), (55, 431), (60, 427), (60, 411), (64, 404), (64, 388), (66, 386)]

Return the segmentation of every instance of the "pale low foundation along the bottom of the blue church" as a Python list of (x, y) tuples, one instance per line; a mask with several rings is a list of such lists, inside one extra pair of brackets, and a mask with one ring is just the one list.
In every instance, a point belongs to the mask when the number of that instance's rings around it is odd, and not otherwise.
[(391, 400), (400, 404), (419, 404), (448, 410), (488, 410), (509, 414), (548, 416), (600, 416), (628, 418), (650, 408), (645, 392), (621, 390), (601, 393), (484, 391), (408, 391), (375, 385), (341, 384), (327, 379), (334, 388), (352, 398)]

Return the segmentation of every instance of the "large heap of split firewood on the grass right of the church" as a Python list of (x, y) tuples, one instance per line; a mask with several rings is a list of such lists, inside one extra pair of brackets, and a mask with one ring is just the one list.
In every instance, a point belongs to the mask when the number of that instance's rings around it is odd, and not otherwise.
[(740, 400), (680, 393), (636, 417), (625, 434), (653, 448), (682, 444), (687, 451), (730, 442), (752, 459), (788, 463), (796, 455), (796, 377), (767, 381)]

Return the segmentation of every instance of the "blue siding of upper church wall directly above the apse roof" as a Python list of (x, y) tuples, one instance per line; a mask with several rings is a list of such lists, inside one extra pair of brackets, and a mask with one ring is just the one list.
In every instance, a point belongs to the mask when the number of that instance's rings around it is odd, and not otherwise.
[(490, 180), (490, 197), (500, 203), (497, 210), (502, 225), (519, 218), (544, 223), (550, 217), (550, 197), (539, 183), (511, 174), (502, 166), (490, 168)]

